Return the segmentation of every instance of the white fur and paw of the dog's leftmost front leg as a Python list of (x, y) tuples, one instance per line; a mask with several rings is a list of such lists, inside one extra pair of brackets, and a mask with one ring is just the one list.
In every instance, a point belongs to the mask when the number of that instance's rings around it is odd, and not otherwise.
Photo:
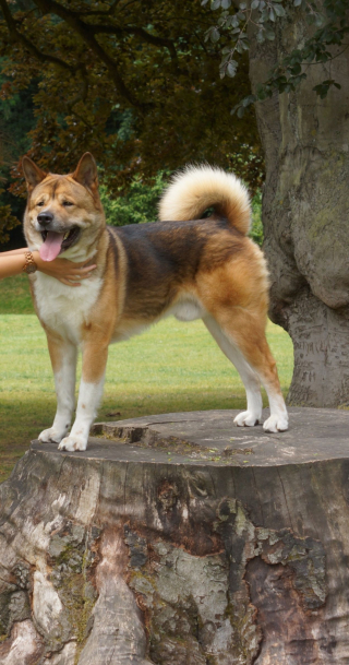
[(62, 346), (61, 353), (62, 365), (60, 370), (55, 372), (57, 412), (52, 427), (44, 429), (38, 437), (43, 442), (59, 443), (69, 431), (74, 411), (77, 349), (72, 344), (67, 344)]

